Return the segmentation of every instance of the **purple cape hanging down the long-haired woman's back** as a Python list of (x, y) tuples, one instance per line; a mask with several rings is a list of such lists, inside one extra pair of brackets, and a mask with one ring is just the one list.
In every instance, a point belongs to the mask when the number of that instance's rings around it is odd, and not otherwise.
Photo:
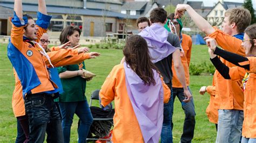
[[(127, 67), (128, 66), (128, 67)], [(160, 75), (153, 70), (156, 85), (143, 80), (124, 62), (125, 84), (144, 142), (158, 142), (164, 118), (164, 90)]]

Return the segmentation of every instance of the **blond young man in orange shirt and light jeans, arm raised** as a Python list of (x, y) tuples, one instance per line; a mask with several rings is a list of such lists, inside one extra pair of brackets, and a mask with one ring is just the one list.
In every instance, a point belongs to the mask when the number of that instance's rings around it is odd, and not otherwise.
[[(251, 23), (250, 12), (244, 8), (228, 9), (225, 12), (223, 31), (212, 27), (203, 17), (198, 15), (190, 5), (178, 4), (176, 18), (187, 11), (194, 23), (201, 31), (215, 39), (220, 47), (226, 51), (245, 55), (241, 47), (244, 30)], [(221, 58), (228, 67), (234, 65)], [(240, 88), (241, 81), (225, 80), (218, 71), (215, 71), (215, 108), (218, 109), (218, 131), (216, 142), (239, 142), (241, 137), (242, 121), (244, 120), (243, 102), (244, 94)]]

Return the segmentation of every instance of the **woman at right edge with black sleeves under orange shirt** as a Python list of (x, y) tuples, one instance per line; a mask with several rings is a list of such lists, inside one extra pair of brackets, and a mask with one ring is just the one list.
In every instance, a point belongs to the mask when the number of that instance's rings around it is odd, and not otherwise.
[[(211, 61), (225, 79), (242, 81), (244, 90), (244, 122), (242, 124), (242, 143), (256, 142), (256, 24), (245, 30), (241, 46), (245, 48), (246, 57), (224, 51), (217, 47), (214, 39), (207, 39)], [(218, 56), (233, 63), (236, 67), (227, 67)]]

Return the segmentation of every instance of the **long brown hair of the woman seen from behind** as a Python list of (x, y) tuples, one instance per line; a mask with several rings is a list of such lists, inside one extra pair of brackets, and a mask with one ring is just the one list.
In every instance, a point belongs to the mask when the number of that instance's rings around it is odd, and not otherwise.
[(143, 80), (145, 85), (156, 84), (153, 69), (159, 70), (151, 62), (147, 42), (140, 35), (130, 35), (123, 49), (127, 65)]

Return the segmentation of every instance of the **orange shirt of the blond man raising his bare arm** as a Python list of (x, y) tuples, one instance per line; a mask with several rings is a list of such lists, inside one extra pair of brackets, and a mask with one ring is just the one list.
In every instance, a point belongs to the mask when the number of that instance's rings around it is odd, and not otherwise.
[[(208, 36), (215, 39), (217, 44), (226, 51), (245, 56), (245, 49), (241, 47), (242, 40), (225, 34), (218, 28), (215, 28), (215, 31)], [(223, 58), (220, 58), (220, 60), (228, 67), (235, 66)], [(226, 110), (243, 110), (244, 93), (240, 88), (242, 81), (225, 80), (225, 78), (220, 75), (219, 71), (215, 71), (214, 78), (216, 90), (216, 95), (214, 98), (215, 108)]]

